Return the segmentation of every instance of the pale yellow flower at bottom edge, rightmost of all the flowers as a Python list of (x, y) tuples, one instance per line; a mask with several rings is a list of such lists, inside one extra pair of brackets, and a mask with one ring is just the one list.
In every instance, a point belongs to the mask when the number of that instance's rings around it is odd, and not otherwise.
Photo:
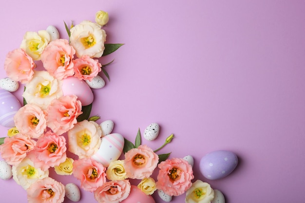
[(210, 184), (195, 181), (186, 192), (185, 203), (210, 203), (214, 199), (214, 190)]

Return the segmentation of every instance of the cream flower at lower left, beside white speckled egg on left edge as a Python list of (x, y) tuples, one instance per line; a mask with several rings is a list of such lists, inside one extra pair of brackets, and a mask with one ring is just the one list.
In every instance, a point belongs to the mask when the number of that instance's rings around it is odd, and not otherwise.
[(12, 172), (13, 179), (25, 190), (37, 180), (49, 177), (49, 170), (43, 171), (35, 168), (29, 158), (23, 159), (17, 166), (12, 166)]

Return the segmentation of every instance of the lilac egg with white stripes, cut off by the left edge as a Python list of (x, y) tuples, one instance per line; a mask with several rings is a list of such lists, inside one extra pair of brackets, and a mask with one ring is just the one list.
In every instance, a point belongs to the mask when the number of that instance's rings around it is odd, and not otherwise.
[(6, 90), (0, 89), (0, 125), (13, 128), (14, 115), (21, 108), (19, 100)]

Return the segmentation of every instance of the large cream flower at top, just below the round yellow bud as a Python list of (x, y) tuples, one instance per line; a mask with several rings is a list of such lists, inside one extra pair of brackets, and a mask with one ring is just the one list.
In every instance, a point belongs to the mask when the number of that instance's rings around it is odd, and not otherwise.
[(106, 32), (99, 24), (85, 20), (71, 28), (70, 32), (70, 45), (76, 50), (78, 58), (83, 55), (99, 58), (103, 55)]

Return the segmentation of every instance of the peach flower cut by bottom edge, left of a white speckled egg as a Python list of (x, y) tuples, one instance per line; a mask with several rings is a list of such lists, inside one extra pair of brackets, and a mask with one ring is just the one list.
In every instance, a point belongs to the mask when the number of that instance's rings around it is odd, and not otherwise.
[(62, 203), (65, 186), (47, 177), (33, 183), (27, 190), (28, 203)]

